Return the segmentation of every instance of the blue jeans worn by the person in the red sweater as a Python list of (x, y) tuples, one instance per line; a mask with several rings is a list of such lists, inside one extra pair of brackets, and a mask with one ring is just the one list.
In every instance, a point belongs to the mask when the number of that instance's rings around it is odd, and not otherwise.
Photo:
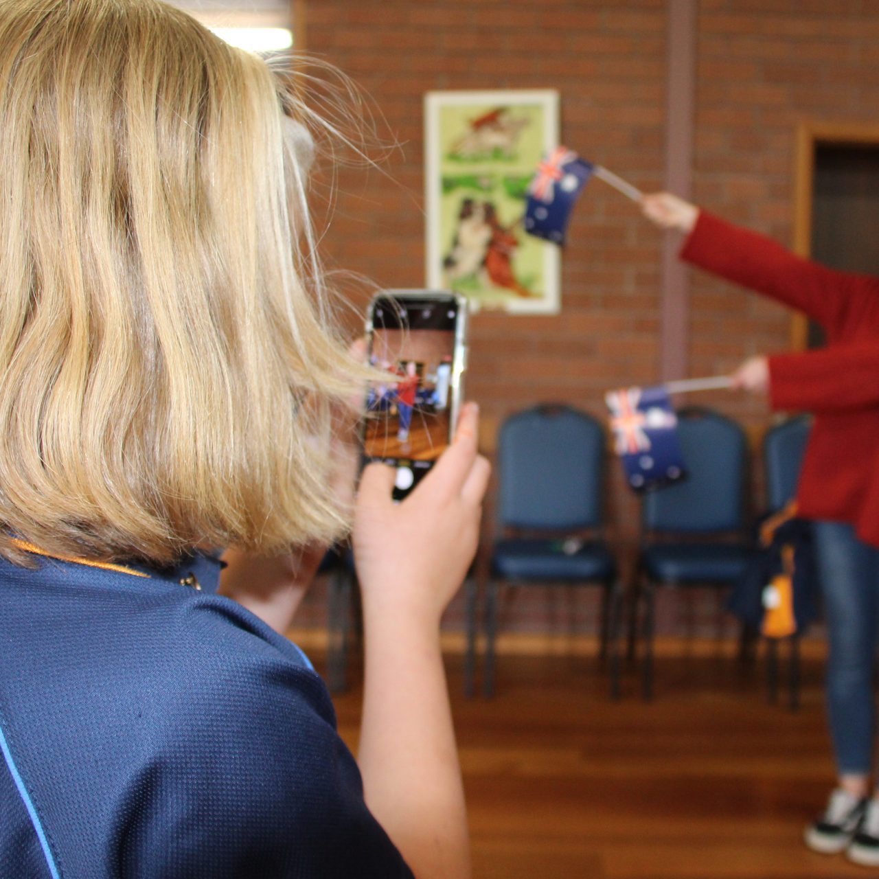
[(840, 522), (816, 522), (817, 565), (830, 655), (827, 710), (839, 774), (873, 765), (873, 666), (879, 614), (879, 549)]

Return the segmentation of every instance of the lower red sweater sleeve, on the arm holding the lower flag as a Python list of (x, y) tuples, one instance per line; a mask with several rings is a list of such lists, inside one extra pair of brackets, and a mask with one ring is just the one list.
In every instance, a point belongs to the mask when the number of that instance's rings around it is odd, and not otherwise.
[(769, 358), (774, 409), (814, 412), (879, 406), (879, 342)]

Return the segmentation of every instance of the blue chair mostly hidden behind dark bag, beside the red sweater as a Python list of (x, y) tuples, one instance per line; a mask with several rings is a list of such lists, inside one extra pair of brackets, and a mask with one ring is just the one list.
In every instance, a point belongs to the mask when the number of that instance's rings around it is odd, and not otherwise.
[[(788, 418), (766, 432), (763, 438), (763, 466), (766, 473), (766, 512), (779, 512), (796, 496), (796, 486), (803, 467), (803, 454), (809, 441), (812, 421), (807, 415)], [(793, 635), (788, 661), (790, 708), (799, 706), (800, 637)], [(778, 701), (778, 642), (766, 640), (766, 671), (769, 701)]]

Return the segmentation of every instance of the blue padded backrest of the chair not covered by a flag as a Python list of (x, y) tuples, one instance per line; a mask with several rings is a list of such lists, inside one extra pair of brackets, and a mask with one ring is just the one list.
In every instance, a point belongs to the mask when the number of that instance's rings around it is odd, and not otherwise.
[(499, 524), (599, 527), (604, 450), (599, 421), (569, 406), (537, 406), (507, 418), (498, 433)]

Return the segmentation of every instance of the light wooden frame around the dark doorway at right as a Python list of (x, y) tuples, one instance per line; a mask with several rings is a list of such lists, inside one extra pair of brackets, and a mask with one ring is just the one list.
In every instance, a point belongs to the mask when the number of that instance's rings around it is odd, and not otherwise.
[[(794, 171), (794, 252), (810, 257), (812, 251), (812, 206), (815, 196), (815, 151), (818, 146), (875, 145), (879, 147), (879, 123), (801, 122), (796, 131)], [(790, 344), (805, 351), (809, 321), (797, 312), (791, 321)]]

